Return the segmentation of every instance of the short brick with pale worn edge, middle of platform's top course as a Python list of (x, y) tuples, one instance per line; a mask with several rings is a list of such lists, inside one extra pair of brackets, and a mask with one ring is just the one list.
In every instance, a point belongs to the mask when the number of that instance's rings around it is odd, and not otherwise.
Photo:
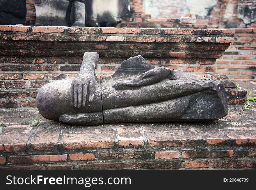
[(138, 129), (138, 127), (131, 125), (127, 126), (118, 126), (117, 138), (118, 138), (118, 147), (134, 147), (140, 148), (144, 146), (144, 139)]

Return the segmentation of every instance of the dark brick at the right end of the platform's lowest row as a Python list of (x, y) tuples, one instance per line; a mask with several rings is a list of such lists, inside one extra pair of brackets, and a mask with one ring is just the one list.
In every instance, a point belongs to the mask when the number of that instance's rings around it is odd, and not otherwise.
[(220, 160), (212, 161), (213, 168), (250, 168), (256, 167), (256, 160)]

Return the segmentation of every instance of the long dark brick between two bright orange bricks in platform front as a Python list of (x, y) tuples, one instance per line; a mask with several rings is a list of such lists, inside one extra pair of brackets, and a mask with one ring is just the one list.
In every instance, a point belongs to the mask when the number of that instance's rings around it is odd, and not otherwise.
[(100, 160), (113, 160), (113, 159), (152, 159), (150, 152), (110, 152), (99, 153), (98, 159)]

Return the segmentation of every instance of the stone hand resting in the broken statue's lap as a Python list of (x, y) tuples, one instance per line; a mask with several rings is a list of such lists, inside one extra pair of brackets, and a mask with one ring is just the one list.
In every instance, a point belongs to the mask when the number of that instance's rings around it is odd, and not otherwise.
[(158, 83), (166, 78), (170, 74), (170, 69), (163, 67), (155, 67), (143, 74), (139, 78), (132, 80), (120, 81), (113, 85), (115, 89), (130, 89), (131, 87), (147, 86), (154, 83)]

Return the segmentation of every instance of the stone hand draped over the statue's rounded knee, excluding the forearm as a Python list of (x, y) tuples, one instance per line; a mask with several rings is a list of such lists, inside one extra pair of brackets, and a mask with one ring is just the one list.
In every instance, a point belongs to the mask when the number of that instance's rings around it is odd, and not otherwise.
[(86, 105), (87, 93), (89, 94), (89, 102), (93, 102), (95, 84), (96, 81), (93, 72), (78, 74), (72, 81), (70, 87), (71, 107), (84, 107)]

